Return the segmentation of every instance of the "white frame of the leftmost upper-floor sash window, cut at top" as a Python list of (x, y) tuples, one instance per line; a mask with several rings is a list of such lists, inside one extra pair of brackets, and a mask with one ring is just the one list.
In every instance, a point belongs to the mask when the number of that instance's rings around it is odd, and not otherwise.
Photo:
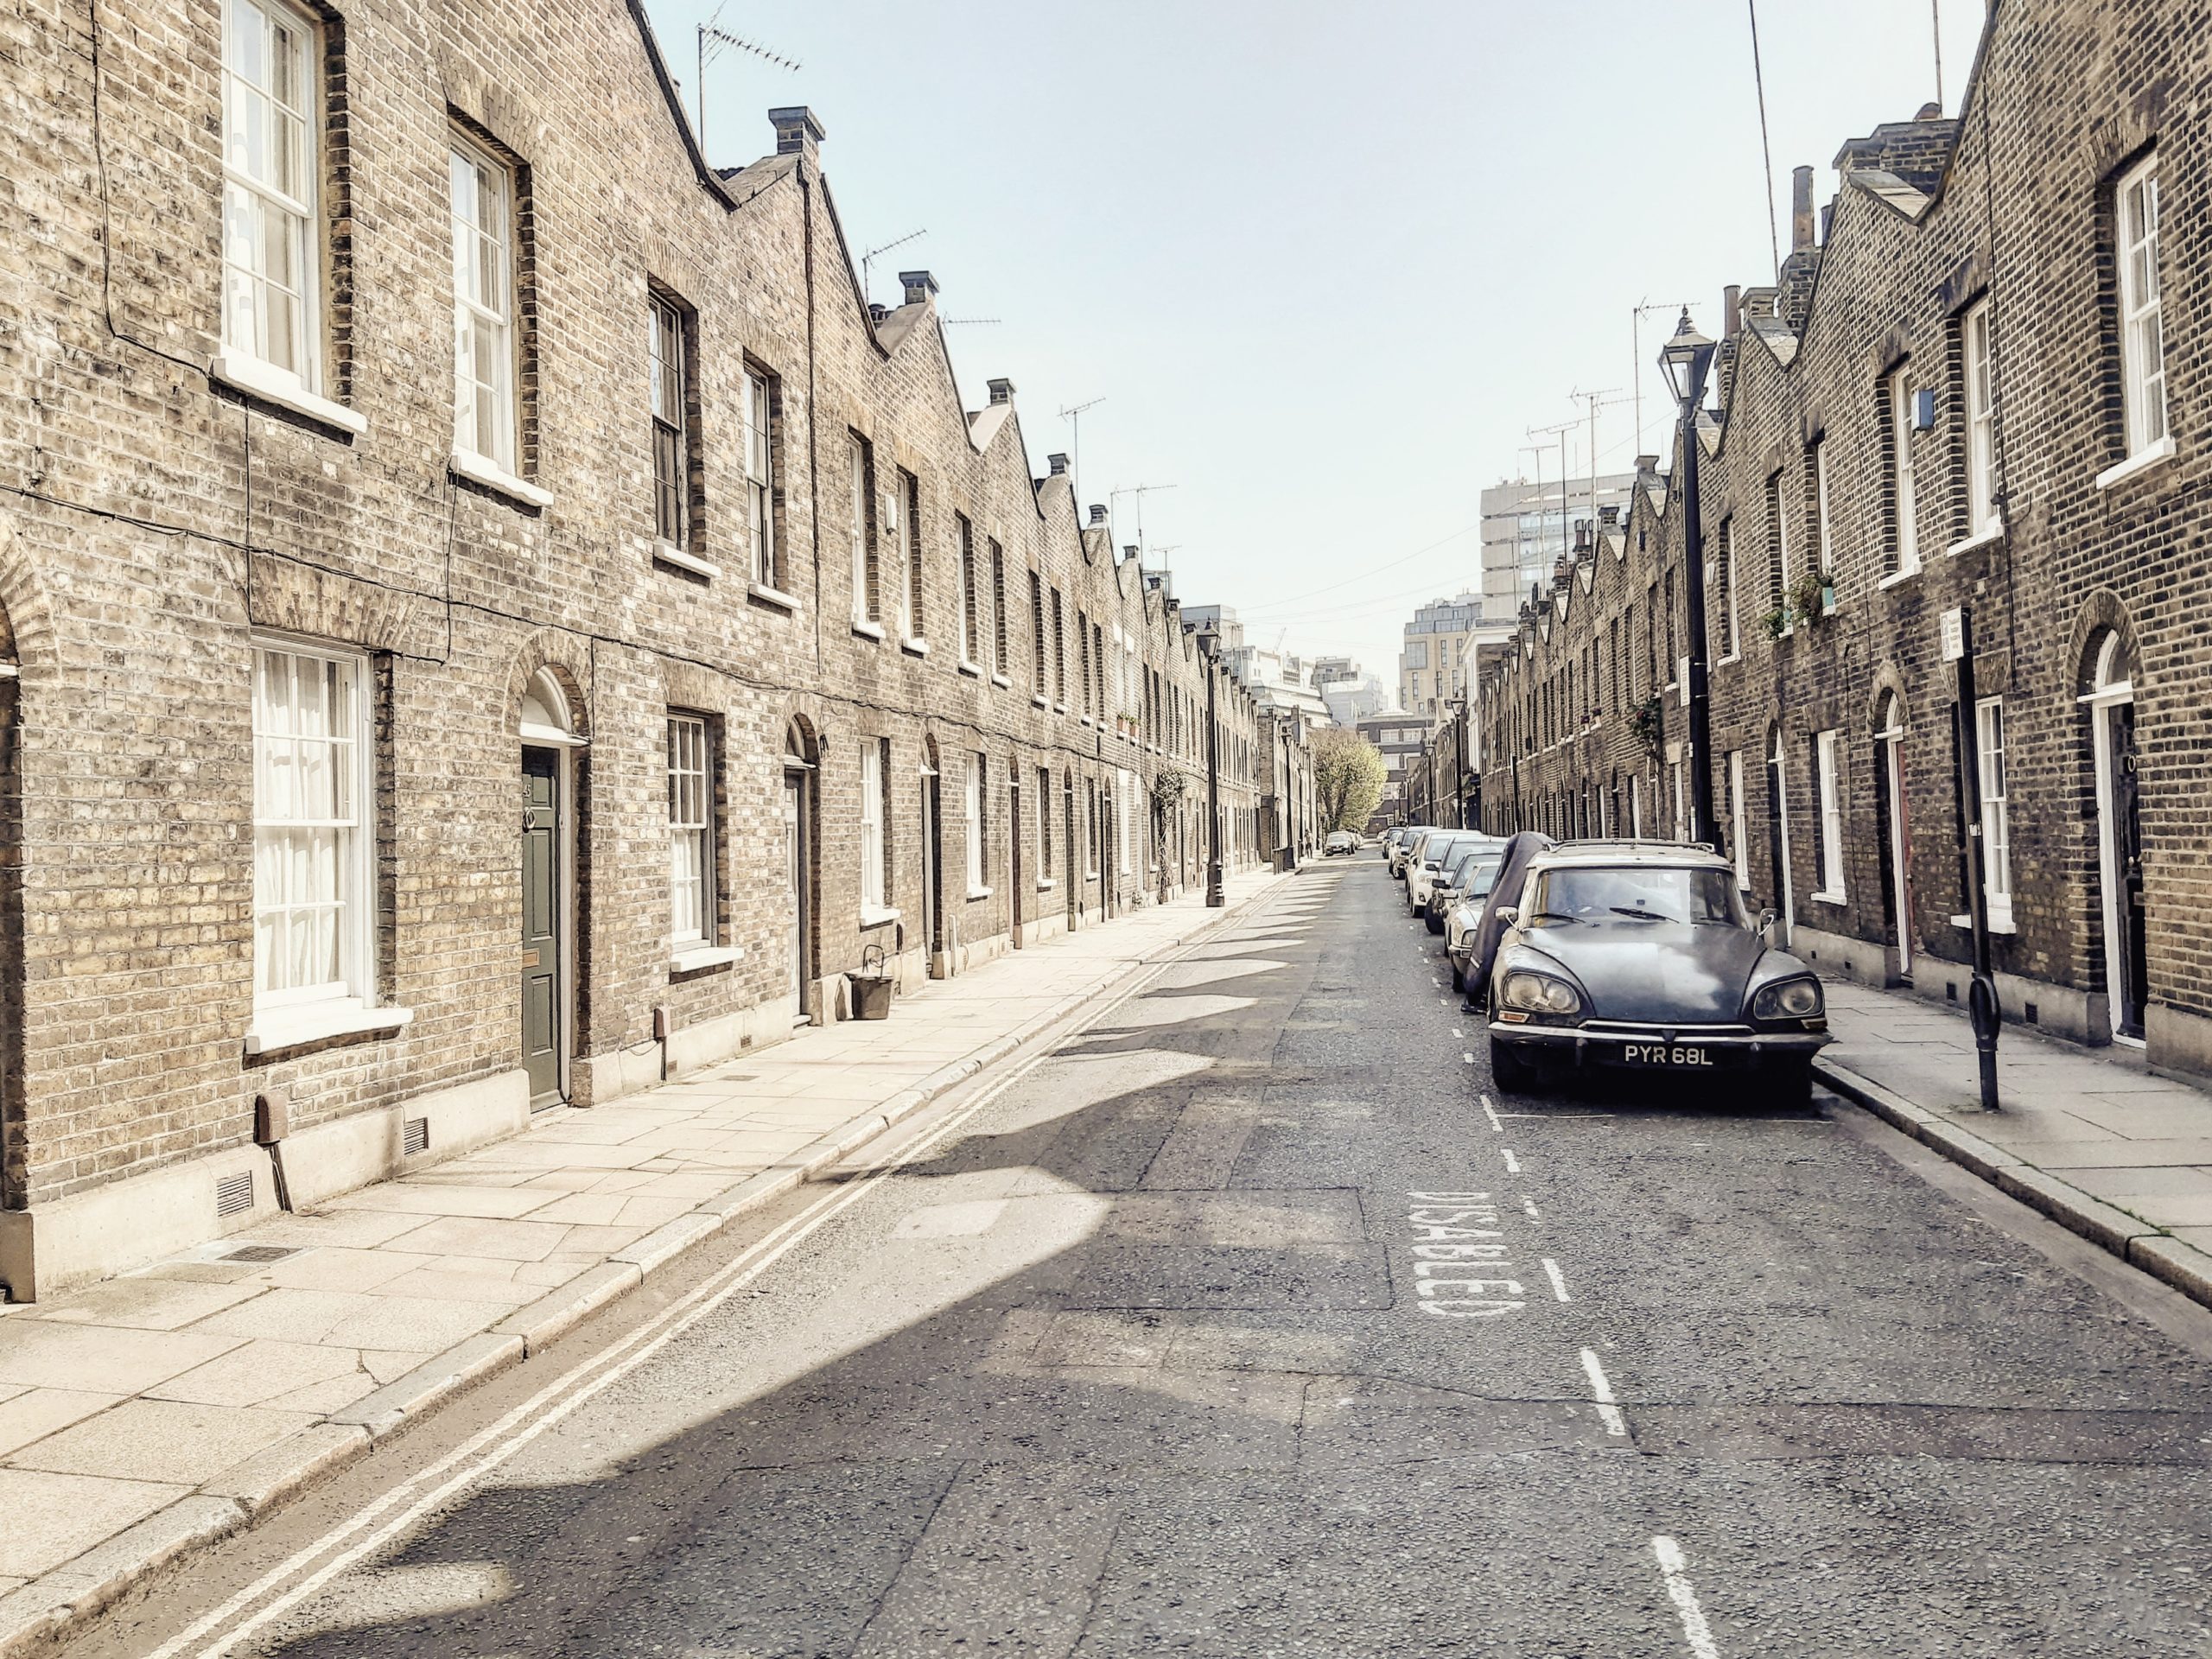
[[(246, 80), (239, 69), (241, 13), (259, 18), (270, 44), (270, 84)], [(276, 53), (290, 31), (296, 104), (281, 104), (276, 93)], [(272, 177), (279, 166), (272, 155), (252, 155), (248, 108), (259, 102), (268, 111), (263, 135), (268, 150), (276, 135), (290, 131), (296, 177)], [(254, 365), (310, 396), (323, 389), (323, 217), (321, 217), (321, 124), (323, 124), (323, 38), (305, 11), (288, 0), (226, 0), (223, 4), (223, 352), (252, 358)], [(268, 221), (276, 217), (283, 246), (292, 261), (292, 285), (263, 270)], [(261, 234), (254, 234), (261, 232)], [(294, 361), (283, 363), (270, 352), (270, 292), (283, 294), (296, 312)]]

